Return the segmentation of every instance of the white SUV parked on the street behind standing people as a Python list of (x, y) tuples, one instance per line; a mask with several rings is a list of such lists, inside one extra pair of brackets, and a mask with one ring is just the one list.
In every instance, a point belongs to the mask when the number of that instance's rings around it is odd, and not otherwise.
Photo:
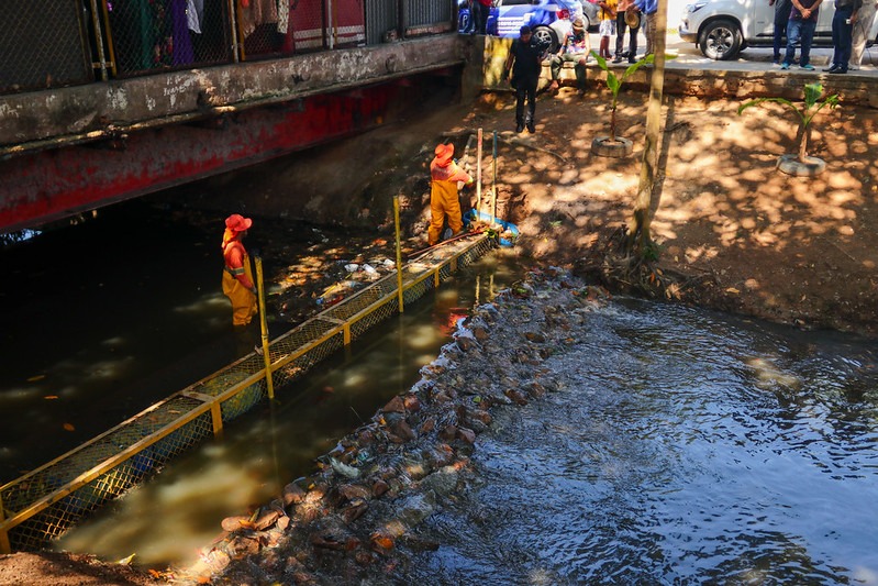
[[(814, 45), (832, 45), (834, 2), (820, 4)], [(683, 9), (680, 38), (696, 43), (711, 59), (733, 59), (749, 45), (774, 43), (775, 7), (768, 0), (699, 0)], [(873, 21), (869, 45), (878, 36), (878, 19)], [(782, 55), (781, 49), (781, 55)]]

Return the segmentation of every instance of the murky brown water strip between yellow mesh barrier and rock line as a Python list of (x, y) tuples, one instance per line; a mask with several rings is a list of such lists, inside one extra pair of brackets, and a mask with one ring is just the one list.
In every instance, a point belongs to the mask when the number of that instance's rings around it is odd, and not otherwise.
[(320, 363), (289, 388), (173, 462), (153, 482), (71, 529), (57, 548), (164, 567), (189, 565), (221, 531), (220, 521), (279, 496), (284, 485), (313, 472), (314, 458), (409, 389), (419, 369), (449, 340), (449, 324), (519, 278), (508, 252), (482, 258)]

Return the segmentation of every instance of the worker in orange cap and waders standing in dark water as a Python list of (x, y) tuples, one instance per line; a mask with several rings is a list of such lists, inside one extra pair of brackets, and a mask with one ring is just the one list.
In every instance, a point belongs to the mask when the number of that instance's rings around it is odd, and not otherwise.
[(253, 220), (240, 213), (225, 219), (223, 233), (223, 294), (232, 301), (232, 325), (237, 338), (238, 355), (251, 350), (254, 336), (247, 330), (256, 314), (256, 286), (253, 283), (249, 256), (241, 242), (247, 235)]

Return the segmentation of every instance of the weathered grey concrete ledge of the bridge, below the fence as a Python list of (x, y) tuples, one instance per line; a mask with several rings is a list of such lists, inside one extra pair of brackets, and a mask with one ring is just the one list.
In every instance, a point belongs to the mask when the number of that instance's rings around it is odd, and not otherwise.
[(456, 66), (458, 35), (171, 71), (0, 99), (0, 156)]

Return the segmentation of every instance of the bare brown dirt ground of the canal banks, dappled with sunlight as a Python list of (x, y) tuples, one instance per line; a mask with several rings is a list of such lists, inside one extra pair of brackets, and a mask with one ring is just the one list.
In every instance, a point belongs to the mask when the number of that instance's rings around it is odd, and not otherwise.
[[(376, 247), (373, 253), (392, 257), (392, 215), (375, 210), (390, 209), (390, 197), (400, 194), (410, 236), (407, 251), (424, 246), (432, 146), (443, 137), (452, 140), (458, 156), (475, 169), (474, 158), (464, 155), (475, 155), (470, 136), (481, 128), (482, 199), (490, 201), (496, 188), (498, 215), (519, 226), (516, 246), (526, 262), (573, 267), (614, 291), (677, 299), (802, 329), (878, 334), (878, 112), (842, 104), (818, 114), (809, 153), (823, 158), (826, 170), (801, 178), (776, 169), (778, 156), (794, 153), (798, 144), (797, 120), (785, 107), (764, 104), (738, 115), (737, 101), (666, 97), (660, 202), (653, 221), (660, 255), (645, 280), (651, 287), (644, 289), (625, 279), (608, 279), (605, 258), (616, 250), (614, 239), (637, 189), (645, 93), (623, 90), (620, 96), (619, 134), (634, 143), (629, 158), (591, 154), (591, 141), (608, 133), (609, 104), (610, 95), (602, 87), (591, 87), (585, 97), (569, 87), (554, 97), (543, 93), (536, 133), (514, 134), (512, 96), (488, 93), (476, 104), (452, 107), (320, 151), (309, 155), (318, 158), (304, 157), (303, 165), (313, 170), (315, 165), (337, 165), (345, 153), (382, 154), (358, 179), (346, 177), (338, 186), (329, 181), (324, 196), (344, 198), (352, 188), (367, 191), (360, 215), (364, 225), (377, 225), (377, 234), (368, 236)], [(471, 199), (475, 203), (475, 195)], [(310, 295), (290, 288), (298, 292), (275, 299), (297, 319), (316, 311), (314, 298), (343, 278), (343, 269), (327, 270), (325, 264), (311, 270), (313, 277), (294, 284), (298, 289), (308, 287)], [(277, 273), (271, 278), (285, 277)], [(81, 556), (0, 557), (0, 584), (154, 581), (164, 578)]]

